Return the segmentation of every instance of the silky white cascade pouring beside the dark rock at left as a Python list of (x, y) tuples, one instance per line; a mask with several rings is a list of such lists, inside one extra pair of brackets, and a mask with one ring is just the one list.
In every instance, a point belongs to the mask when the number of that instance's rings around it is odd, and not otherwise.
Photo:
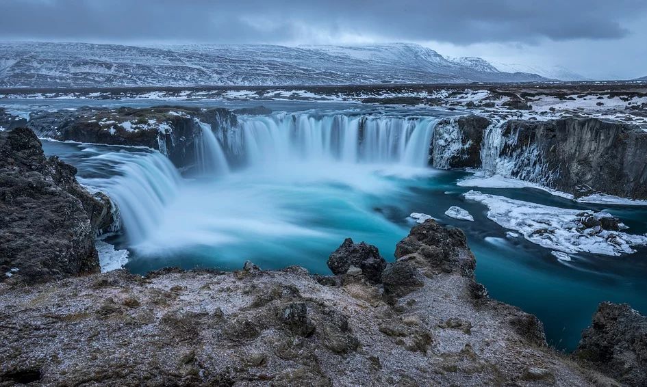
[(107, 193), (116, 203), (129, 243), (143, 241), (160, 223), (164, 207), (177, 196), (181, 185), (179, 172), (157, 151), (121, 150), (94, 158), (97, 165), (112, 165), (116, 176), (79, 180)]

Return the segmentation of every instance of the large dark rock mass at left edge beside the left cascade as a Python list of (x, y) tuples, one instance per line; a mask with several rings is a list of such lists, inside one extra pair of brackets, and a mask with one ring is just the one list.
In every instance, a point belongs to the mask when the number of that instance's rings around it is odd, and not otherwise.
[(94, 237), (110, 227), (112, 207), (75, 174), (58, 158), (46, 159), (29, 129), (0, 132), (0, 282), (99, 271)]

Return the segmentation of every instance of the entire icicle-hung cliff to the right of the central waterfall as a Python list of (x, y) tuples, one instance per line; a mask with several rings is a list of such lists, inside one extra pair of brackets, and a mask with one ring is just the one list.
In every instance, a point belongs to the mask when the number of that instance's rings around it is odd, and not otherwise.
[(430, 151), (437, 168), (481, 168), (586, 196), (647, 198), (647, 132), (598, 118), (446, 118)]

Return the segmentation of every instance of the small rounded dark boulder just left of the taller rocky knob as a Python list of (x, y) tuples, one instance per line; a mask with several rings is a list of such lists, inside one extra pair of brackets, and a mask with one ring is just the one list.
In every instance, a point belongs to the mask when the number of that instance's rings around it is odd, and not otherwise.
[(371, 282), (379, 282), (386, 261), (374, 245), (364, 242), (353, 243), (353, 239), (346, 238), (344, 243), (330, 254), (328, 267), (335, 276), (346, 274), (351, 266), (361, 269), (362, 275)]

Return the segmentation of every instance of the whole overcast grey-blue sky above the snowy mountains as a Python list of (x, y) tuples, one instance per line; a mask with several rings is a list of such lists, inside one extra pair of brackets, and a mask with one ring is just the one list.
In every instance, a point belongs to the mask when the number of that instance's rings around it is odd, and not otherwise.
[(0, 0), (0, 40), (416, 42), (442, 55), (647, 75), (645, 0)]

